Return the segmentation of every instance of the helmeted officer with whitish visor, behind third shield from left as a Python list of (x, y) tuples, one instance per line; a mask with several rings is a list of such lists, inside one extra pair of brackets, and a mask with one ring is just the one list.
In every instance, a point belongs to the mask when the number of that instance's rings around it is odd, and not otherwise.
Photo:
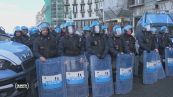
[(98, 21), (91, 24), (92, 35), (86, 40), (86, 49), (90, 55), (96, 55), (103, 59), (108, 54), (108, 41), (106, 36), (101, 33), (101, 25)]

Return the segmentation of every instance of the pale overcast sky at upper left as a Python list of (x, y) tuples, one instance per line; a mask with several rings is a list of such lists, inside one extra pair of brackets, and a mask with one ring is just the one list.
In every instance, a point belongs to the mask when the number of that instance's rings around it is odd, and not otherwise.
[(17, 25), (35, 25), (35, 16), (44, 5), (44, 0), (0, 0), (0, 26), (13, 33)]

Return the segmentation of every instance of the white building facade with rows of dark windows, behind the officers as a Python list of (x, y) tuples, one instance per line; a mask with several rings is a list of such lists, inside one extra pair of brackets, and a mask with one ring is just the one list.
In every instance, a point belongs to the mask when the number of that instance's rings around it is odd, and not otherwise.
[(64, 0), (64, 19), (73, 20), (78, 28), (103, 18), (103, 0)]

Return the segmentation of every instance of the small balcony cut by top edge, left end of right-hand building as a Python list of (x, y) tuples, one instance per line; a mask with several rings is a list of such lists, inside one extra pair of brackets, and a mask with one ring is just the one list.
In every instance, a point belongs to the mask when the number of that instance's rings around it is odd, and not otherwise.
[(139, 7), (144, 5), (144, 0), (130, 0), (129, 8)]

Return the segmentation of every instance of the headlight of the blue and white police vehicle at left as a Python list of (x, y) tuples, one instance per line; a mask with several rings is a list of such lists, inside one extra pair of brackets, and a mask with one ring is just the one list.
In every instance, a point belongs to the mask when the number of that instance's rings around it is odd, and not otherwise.
[(23, 70), (21, 65), (13, 65), (9, 61), (0, 59), (0, 70), (6, 70), (6, 69), (10, 69), (15, 72), (20, 72)]

